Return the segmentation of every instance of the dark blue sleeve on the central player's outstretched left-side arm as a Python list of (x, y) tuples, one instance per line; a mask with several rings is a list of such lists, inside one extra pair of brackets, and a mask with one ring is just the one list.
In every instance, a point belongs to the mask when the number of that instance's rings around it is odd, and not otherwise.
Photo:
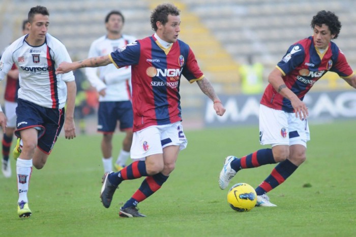
[(135, 41), (122, 48), (118, 48), (111, 52), (109, 58), (116, 68), (136, 65), (140, 58), (140, 44)]

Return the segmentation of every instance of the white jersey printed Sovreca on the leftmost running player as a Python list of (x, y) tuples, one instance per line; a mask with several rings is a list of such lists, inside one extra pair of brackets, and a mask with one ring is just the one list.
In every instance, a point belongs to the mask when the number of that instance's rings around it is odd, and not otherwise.
[(47, 34), (41, 46), (31, 46), (27, 35), (13, 42), (0, 60), (0, 80), (3, 80), (15, 63), (19, 69), (18, 98), (39, 106), (62, 109), (67, 100), (65, 82), (74, 81), (73, 72), (55, 74), (61, 62), (72, 62), (64, 44)]

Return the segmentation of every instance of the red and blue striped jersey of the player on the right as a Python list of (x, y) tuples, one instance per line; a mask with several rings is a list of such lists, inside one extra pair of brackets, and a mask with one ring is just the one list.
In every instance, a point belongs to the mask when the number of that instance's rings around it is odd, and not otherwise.
[[(282, 72), (285, 85), (301, 100), (328, 71), (336, 72), (343, 78), (354, 74), (343, 52), (334, 42), (330, 42), (321, 53), (314, 46), (313, 36), (291, 45), (276, 67)], [(261, 104), (288, 113), (294, 112), (290, 100), (277, 93), (271, 84), (266, 87)]]

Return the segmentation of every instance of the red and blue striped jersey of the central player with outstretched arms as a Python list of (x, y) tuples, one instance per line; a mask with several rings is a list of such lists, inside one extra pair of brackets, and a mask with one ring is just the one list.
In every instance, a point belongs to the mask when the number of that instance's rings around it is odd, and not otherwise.
[(109, 57), (117, 68), (131, 65), (133, 131), (181, 121), (181, 76), (190, 83), (204, 76), (193, 51), (181, 40), (166, 49), (151, 36)]

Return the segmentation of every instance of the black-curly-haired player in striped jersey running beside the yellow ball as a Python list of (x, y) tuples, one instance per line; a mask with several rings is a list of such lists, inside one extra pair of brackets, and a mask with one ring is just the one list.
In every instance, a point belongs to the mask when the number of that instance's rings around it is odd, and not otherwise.
[(266, 193), (284, 182), (305, 160), (310, 140), (305, 94), (327, 71), (339, 74), (356, 88), (356, 75), (345, 55), (332, 42), (339, 36), (341, 23), (333, 12), (319, 11), (311, 20), (313, 35), (292, 44), (268, 77), (260, 102), (260, 149), (241, 157), (227, 156), (220, 172), (219, 186), (226, 189), (242, 169), (279, 163), (256, 188), (257, 206), (276, 206)]

